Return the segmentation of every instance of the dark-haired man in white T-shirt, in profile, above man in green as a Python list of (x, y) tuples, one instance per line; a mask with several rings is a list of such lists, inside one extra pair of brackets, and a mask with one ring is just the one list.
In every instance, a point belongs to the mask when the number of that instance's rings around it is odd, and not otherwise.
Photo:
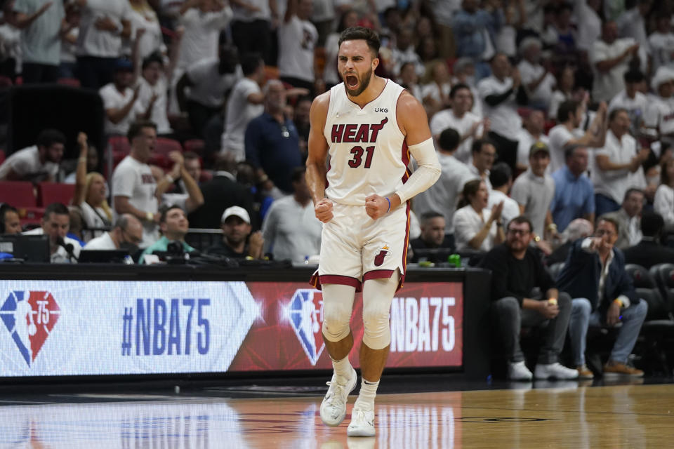
[(130, 213), (143, 222), (143, 243), (147, 248), (159, 238), (157, 182), (147, 165), (157, 145), (157, 126), (150, 121), (133, 123), (128, 130), (131, 153), (112, 173), (112, 195), (117, 215)]

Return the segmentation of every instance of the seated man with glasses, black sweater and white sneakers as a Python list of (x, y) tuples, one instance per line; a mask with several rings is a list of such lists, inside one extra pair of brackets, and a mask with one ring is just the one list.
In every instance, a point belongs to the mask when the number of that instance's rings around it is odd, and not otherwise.
[[(481, 266), (491, 270), (491, 312), (498, 340), (508, 358), (508, 378), (529, 381), (575, 379), (578, 372), (559, 363), (571, 315), (571, 297), (555, 288), (541, 258), (529, 246), (533, 238), (529, 218), (520, 215), (508, 223), (505, 243), (484, 256)], [(539, 293), (534, 293), (538, 288)], [(520, 347), (522, 326), (548, 326), (534, 374), (524, 363)]]

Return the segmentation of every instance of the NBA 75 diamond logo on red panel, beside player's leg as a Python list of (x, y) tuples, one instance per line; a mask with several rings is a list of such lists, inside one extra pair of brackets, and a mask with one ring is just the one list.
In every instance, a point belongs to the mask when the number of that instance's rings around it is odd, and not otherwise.
[(296, 290), (288, 309), (295, 335), (312, 366), (315, 366), (325, 347), (321, 330), (323, 295), (319, 290)]

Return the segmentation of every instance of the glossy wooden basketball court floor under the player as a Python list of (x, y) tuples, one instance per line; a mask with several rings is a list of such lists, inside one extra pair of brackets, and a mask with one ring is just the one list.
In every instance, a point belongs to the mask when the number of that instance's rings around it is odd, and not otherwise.
[[(541, 388), (546, 386), (560, 388)], [(377, 436), (325, 427), (317, 396), (50, 395), (1, 401), (1, 448), (671, 448), (674, 386), (382, 394)], [(52, 399), (49, 401), (48, 398)], [(77, 403), (85, 399), (87, 403)], [(1, 398), (0, 398), (1, 399)], [(354, 396), (350, 398), (350, 410)]]

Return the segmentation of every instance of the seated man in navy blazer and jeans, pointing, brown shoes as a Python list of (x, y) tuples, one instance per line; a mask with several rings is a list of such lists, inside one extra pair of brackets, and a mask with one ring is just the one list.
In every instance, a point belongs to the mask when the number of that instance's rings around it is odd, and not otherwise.
[(625, 256), (614, 245), (620, 227), (616, 220), (600, 217), (595, 236), (574, 243), (562, 273), (557, 279), (560, 291), (574, 298), (571, 304), (569, 335), (579, 378), (592, 378), (585, 364), (588, 326), (619, 327), (604, 377), (641, 377), (642, 370), (627, 366), (648, 304), (637, 297), (625, 271)]

